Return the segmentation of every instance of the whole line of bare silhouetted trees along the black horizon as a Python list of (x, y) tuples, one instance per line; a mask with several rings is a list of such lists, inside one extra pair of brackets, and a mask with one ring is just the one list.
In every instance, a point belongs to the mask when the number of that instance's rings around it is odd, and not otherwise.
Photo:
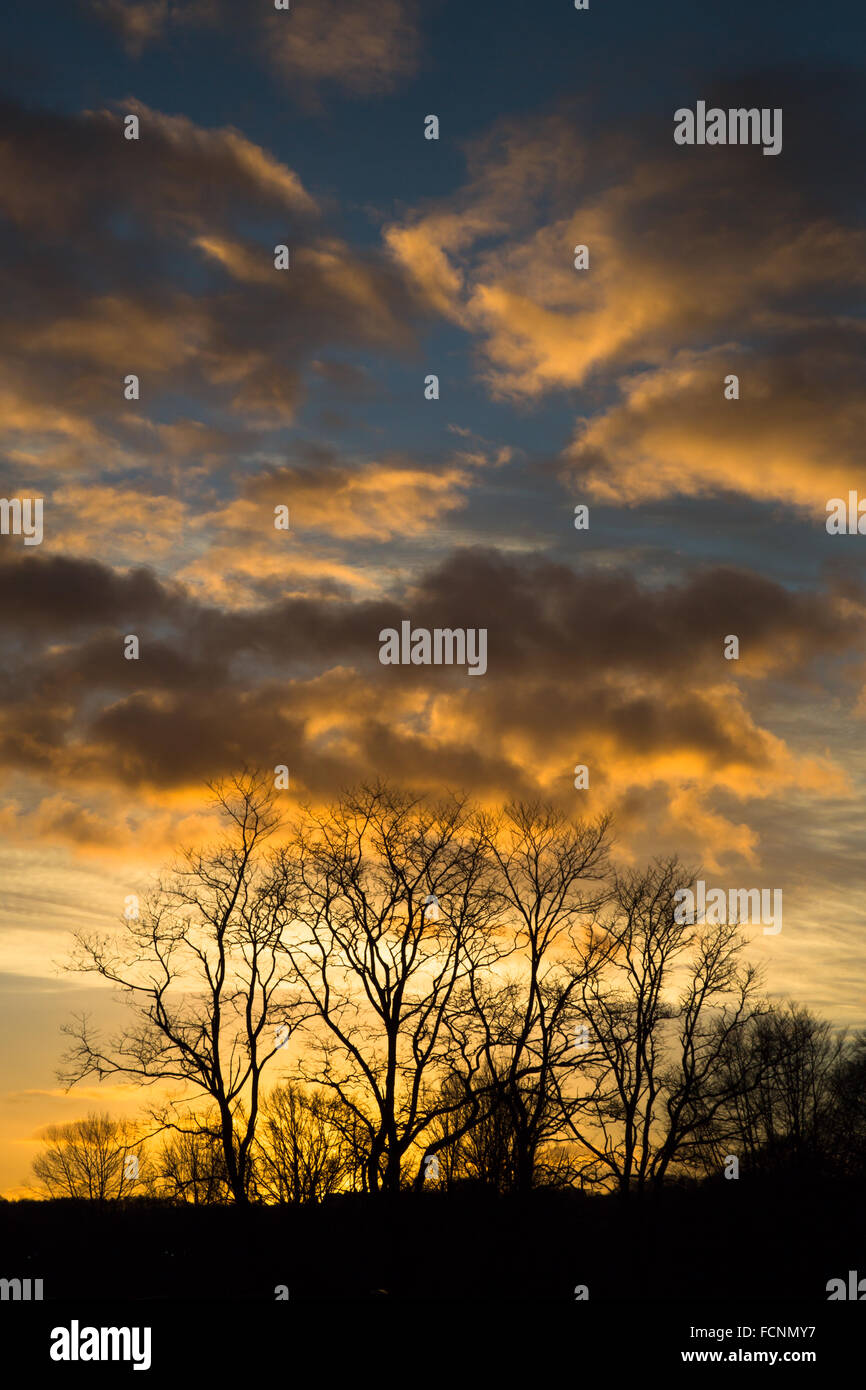
[(49, 1130), (47, 1194), (866, 1176), (866, 1034), (767, 999), (740, 924), (681, 920), (695, 874), (616, 866), (609, 817), (378, 783), (285, 824), (264, 774), (211, 792), (217, 842), (76, 934), (128, 1023), (74, 1019), (61, 1079), (157, 1098)]

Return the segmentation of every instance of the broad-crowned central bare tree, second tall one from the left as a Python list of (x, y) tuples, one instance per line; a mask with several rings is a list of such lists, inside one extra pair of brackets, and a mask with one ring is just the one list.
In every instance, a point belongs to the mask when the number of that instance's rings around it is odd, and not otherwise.
[(286, 949), (314, 1011), (299, 1074), (352, 1115), (367, 1190), (395, 1193), (446, 1104), (430, 1081), (495, 910), (484, 845), (461, 799), (427, 806), (379, 784), (309, 812), (284, 870), (296, 919)]

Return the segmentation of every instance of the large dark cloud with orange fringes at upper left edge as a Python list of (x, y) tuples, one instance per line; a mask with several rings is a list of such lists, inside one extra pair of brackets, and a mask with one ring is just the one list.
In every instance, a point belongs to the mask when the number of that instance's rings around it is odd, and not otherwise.
[[(124, 139), (126, 113), (139, 140)], [(135, 100), (82, 115), (7, 104), (0, 124), (10, 449), (54, 435), (79, 446), (82, 471), (104, 466), (110, 441), (146, 457), (147, 421), (179, 393), (232, 430), (275, 428), (325, 345), (410, 346), (395, 268), (331, 235), (300, 179), (239, 131)], [(282, 243), (288, 271), (274, 268)], [(140, 403), (124, 400), (128, 373)]]

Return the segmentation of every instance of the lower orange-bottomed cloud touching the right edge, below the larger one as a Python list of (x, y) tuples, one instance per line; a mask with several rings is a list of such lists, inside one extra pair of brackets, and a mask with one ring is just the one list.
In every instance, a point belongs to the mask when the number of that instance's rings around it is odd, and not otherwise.
[[(724, 489), (826, 518), (856, 485), (866, 435), (862, 327), (805, 335), (762, 356), (727, 343), (623, 378), (621, 402), (578, 423), (564, 474), (634, 505)], [(724, 398), (728, 374), (740, 399)]]

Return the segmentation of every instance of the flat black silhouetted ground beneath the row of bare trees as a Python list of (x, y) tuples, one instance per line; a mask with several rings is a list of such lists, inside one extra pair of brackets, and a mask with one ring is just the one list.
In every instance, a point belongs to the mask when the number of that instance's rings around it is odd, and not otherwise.
[[(616, 1197), (470, 1190), (320, 1207), (0, 1202), (0, 1277), (46, 1301), (806, 1300), (866, 1277), (862, 1184), (720, 1182)], [(379, 1293), (384, 1291), (384, 1293)]]

